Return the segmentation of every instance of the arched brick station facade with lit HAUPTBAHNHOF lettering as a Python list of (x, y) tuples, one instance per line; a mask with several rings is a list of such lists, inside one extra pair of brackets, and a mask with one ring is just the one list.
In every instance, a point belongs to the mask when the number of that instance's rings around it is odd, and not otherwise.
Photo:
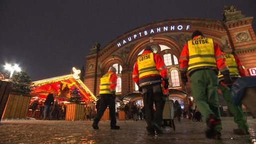
[(156, 45), (157, 53), (162, 55), (168, 67), (169, 96), (187, 107), (187, 97), (192, 96), (190, 79), (188, 77), (187, 84), (183, 84), (178, 59), (194, 30), (213, 38), (222, 50), (234, 51), (246, 69), (256, 67), (256, 36), (251, 26), (253, 17), (230, 7), (223, 8), (222, 16), (222, 20), (186, 17), (155, 21), (125, 32), (102, 48), (96, 42), (85, 56), (83, 82), (94, 95), (98, 95), (100, 77), (114, 66), (118, 76), (117, 96), (124, 101), (142, 99), (132, 80), (133, 65), (146, 45)]

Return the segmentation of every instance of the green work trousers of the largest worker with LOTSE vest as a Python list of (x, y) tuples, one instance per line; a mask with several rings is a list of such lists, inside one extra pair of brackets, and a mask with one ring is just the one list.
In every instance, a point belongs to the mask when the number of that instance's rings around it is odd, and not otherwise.
[[(195, 105), (203, 115), (204, 121), (207, 122), (209, 114), (214, 114), (216, 118), (220, 118), (216, 72), (211, 69), (198, 69), (192, 73), (190, 79), (192, 96)], [(221, 122), (216, 124), (214, 129), (220, 132), (222, 129)]]

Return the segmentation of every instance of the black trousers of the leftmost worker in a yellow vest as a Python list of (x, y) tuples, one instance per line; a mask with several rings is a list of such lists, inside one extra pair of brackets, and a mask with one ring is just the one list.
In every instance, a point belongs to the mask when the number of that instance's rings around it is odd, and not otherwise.
[(98, 104), (98, 109), (95, 118), (93, 121), (98, 124), (101, 116), (104, 114), (104, 111), (108, 105), (109, 107), (109, 114), (110, 114), (110, 126), (115, 126), (116, 124), (116, 117), (115, 117), (115, 101), (112, 98), (112, 94), (99, 94), (100, 101)]

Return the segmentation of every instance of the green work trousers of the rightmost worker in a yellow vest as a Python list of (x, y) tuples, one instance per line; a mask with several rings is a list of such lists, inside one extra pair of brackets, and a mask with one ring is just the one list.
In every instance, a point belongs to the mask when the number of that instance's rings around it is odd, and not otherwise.
[(237, 124), (237, 127), (243, 130), (248, 130), (248, 124), (245, 120), (243, 111), (242, 111), (242, 105), (235, 105), (230, 97), (230, 90), (228, 90), (225, 86), (222, 84), (220, 85), (220, 89), (222, 91), (222, 95), (227, 102), (228, 109), (232, 112), (234, 115), (234, 122)]

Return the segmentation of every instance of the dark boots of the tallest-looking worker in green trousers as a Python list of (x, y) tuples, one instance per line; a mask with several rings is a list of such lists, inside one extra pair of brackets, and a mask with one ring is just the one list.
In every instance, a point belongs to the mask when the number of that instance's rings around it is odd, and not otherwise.
[(221, 134), (220, 132), (216, 131), (214, 129), (215, 125), (220, 123), (220, 119), (216, 118), (216, 116), (214, 114), (210, 114), (209, 118), (206, 120), (206, 124), (207, 124), (207, 129), (205, 131), (206, 137), (207, 138), (214, 138), (214, 139), (221, 139)]

